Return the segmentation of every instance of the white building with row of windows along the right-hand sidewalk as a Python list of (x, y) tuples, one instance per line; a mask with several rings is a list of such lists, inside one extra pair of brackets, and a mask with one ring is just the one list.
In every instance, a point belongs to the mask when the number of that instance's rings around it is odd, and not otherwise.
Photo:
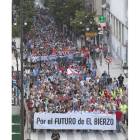
[(128, 64), (128, 0), (106, 0), (102, 5), (106, 17), (105, 43), (109, 52), (123, 65)]

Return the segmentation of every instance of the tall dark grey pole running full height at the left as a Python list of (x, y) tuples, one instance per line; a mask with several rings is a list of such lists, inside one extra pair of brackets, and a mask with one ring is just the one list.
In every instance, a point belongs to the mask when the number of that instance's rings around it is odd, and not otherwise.
[(23, 22), (22, 22), (22, 0), (20, 0), (20, 52), (21, 52), (21, 116), (20, 116), (20, 134), (21, 140), (24, 140), (24, 102), (23, 102)]

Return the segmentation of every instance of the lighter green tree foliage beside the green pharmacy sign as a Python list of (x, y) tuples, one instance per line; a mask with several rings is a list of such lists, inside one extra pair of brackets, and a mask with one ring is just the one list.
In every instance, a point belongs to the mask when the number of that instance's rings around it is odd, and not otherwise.
[[(87, 15), (87, 17), (85, 17)], [(96, 21), (94, 20), (96, 16), (96, 11), (92, 13), (86, 13), (86, 11), (77, 11), (76, 17), (74, 20), (71, 21), (70, 25), (74, 29), (75, 32), (79, 34), (84, 34), (86, 32), (86, 25), (89, 25), (89, 32), (97, 32), (98, 26)], [(82, 21), (82, 25), (80, 24), (80, 20)], [(90, 20), (92, 20), (92, 24), (90, 24)]]

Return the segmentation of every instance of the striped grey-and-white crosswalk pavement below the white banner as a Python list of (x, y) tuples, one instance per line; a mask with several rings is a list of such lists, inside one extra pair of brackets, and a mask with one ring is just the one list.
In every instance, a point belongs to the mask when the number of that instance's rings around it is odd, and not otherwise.
[[(100, 133), (100, 132), (59, 132), (60, 140), (126, 140), (123, 133)], [(30, 133), (27, 135), (31, 140), (50, 140), (52, 133)]]

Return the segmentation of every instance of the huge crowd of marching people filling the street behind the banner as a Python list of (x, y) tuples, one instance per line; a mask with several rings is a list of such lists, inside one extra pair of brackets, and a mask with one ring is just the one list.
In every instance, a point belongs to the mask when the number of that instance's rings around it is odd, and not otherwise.
[[(25, 107), (27, 105), (31, 112), (31, 129), (34, 131), (35, 112), (116, 114), (117, 132), (120, 131), (122, 116), (123, 123), (128, 125), (128, 88), (123, 84), (122, 74), (113, 77), (104, 71), (97, 75), (96, 68), (89, 62), (94, 51), (92, 44), (85, 48), (70, 41), (57, 29), (48, 9), (40, 9), (33, 18), (25, 55), (30, 74), (24, 72)], [(101, 59), (102, 50), (97, 48), (96, 57)], [(104, 48), (103, 53), (106, 57)], [(82, 56), (82, 59), (79, 63), (71, 59), (58, 63), (51, 57), (68, 54)], [(46, 56), (43, 61), (42, 56)], [(79, 77), (67, 76), (68, 68), (79, 73)]]

